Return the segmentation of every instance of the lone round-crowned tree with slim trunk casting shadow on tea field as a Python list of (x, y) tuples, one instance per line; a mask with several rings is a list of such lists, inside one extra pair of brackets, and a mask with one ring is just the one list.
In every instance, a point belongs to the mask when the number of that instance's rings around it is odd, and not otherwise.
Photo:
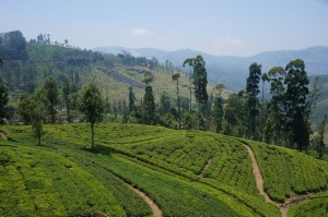
[(91, 145), (94, 150), (94, 124), (102, 120), (104, 110), (104, 100), (95, 84), (90, 84), (83, 89), (80, 110), (86, 116), (86, 121), (91, 124)]

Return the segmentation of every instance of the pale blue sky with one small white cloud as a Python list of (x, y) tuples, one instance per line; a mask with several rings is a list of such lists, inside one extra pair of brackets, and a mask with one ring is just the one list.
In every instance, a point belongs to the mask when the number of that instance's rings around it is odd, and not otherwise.
[(0, 0), (0, 32), (246, 57), (328, 46), (328, 0)]

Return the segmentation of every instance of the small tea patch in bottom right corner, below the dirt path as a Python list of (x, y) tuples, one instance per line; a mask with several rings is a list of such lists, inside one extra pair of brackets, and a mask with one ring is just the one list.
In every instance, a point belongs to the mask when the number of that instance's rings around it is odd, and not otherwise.
[(289, 217), (309, 217), (328, 215), (328, 194), (312, 196), (289, 209)]

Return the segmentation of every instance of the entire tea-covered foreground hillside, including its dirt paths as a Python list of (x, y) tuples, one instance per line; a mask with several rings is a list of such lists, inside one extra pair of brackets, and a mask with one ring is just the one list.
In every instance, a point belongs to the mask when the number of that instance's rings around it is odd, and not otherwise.
[(45, 131), (36, 146), (31, 126), (1, 126), (0, 216), (151, 216), (154, 205), (155, 216), (306, 216), (328, 203), (328, 162), (295, 150), (209, 132), (99, 123), (92, 153), (89, 124)]

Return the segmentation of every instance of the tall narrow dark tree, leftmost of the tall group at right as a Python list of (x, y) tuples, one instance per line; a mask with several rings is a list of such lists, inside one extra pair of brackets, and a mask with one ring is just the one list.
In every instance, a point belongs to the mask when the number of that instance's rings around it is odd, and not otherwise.
[(249, 67), (249, 75), (247, 77), (246, 84), (246, 95), (247, 95), (247, 135), (253, 140), (258, 140), (256, 126), (257, 119), (259, 114), (259, 100), (257, 95), (259, 91), (259, 82), (261, 79), (261, 68), (262, 65), (257, 64), (256, 62), (251, 63)]

